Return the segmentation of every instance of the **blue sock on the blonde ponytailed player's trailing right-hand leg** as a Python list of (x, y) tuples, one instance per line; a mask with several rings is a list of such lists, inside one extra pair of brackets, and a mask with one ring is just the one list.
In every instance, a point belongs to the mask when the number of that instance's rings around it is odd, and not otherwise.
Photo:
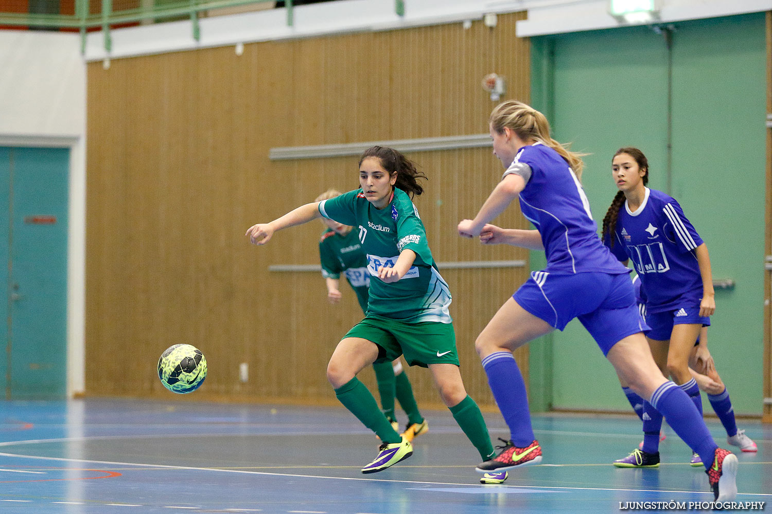
[(703, 416), (697, 412), (694, 402), (679, 386), (666, 381), (660, 385), (651, 398), (651, 404), (665, 418), (673, 431), (703, 459), (705, 469), (713, 465), (718, 445), (705, 426)]

